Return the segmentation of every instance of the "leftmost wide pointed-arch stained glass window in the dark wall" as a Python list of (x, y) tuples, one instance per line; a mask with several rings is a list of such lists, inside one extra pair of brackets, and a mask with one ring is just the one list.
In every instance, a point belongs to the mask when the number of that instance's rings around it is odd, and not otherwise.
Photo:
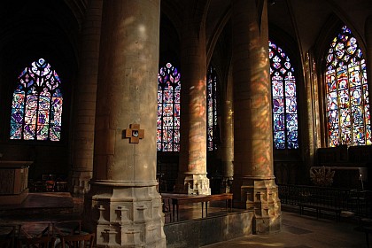
[(63, 96), (57, 72), (43, 58), (18, 77), (12, 97), (10, 138), (59, 141)]

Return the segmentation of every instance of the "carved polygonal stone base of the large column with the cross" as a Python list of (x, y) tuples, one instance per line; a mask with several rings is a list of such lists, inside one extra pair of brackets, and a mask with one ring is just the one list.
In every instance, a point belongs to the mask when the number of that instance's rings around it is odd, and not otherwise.
[(166, 247), (161, 196), (153, 185), (90, 182), (84, 227), (97, 234), (97, 247)]

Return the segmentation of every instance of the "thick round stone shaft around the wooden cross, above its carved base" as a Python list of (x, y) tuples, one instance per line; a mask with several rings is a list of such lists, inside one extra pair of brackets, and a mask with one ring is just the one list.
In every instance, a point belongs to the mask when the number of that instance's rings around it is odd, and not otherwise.
[[(93, 177), (135, 185), (156, 178), (159, 1), (122, 2), (104, 2)], [(139, 143), (124, 138), (130, 124)]]

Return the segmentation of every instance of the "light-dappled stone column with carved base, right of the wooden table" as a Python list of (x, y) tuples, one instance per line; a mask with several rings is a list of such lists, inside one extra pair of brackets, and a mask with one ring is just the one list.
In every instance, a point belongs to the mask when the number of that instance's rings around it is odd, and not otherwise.
[(267, 1), (233, 0), (234, 204), (253, 211), (252, 231), (274, 232), (281, 207), (273, 170)]

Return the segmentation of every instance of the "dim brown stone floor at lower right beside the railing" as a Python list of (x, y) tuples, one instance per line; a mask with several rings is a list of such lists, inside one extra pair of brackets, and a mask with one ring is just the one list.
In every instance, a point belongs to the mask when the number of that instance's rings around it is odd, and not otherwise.
[[(227, 242), (209, 244), (205, 248), (362, 248), (368, 247), (364, 232), (358, 222), (299, 215), (282, 212), (282, 230), (271, 235), (252, 235), (236, 238)], [(372, 242), (372, 235), (369, 236)]]

